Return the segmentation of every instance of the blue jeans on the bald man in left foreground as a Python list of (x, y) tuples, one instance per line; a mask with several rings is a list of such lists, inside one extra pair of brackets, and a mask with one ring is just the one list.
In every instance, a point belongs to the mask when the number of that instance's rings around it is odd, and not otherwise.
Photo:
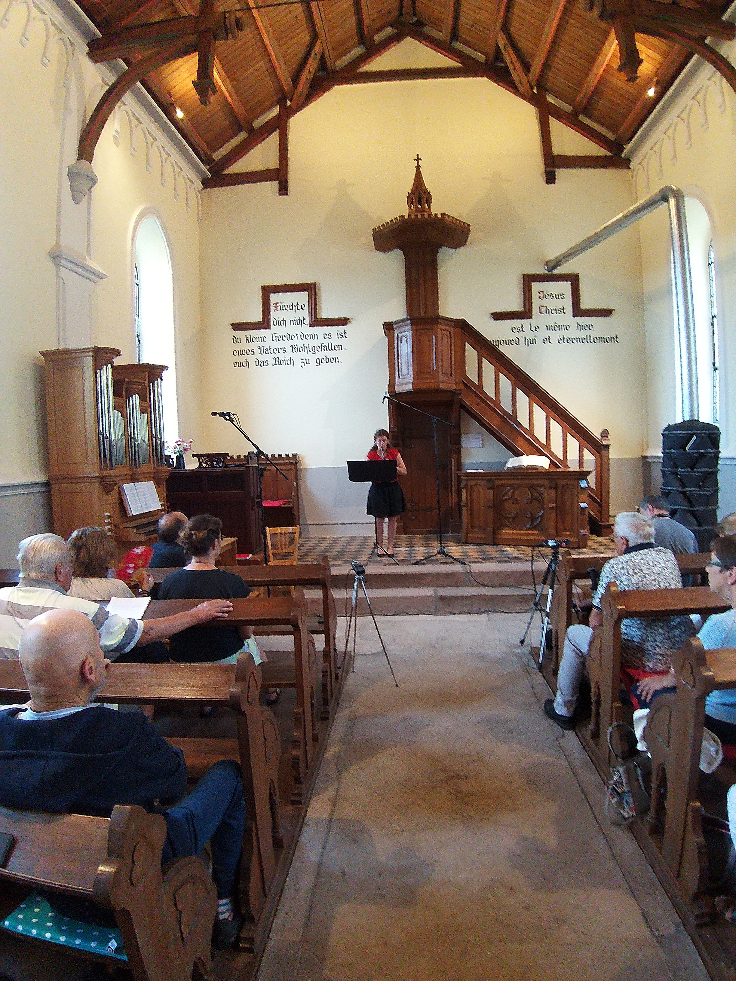
[(237, 865), (245, 828), (240, 767), (232, 759), (215, 763), (197, 785), (164, 811), (167, 836), (161, 861), (198, 855), (212, 845), (212, 878), (218, 899), (236, 891)]

